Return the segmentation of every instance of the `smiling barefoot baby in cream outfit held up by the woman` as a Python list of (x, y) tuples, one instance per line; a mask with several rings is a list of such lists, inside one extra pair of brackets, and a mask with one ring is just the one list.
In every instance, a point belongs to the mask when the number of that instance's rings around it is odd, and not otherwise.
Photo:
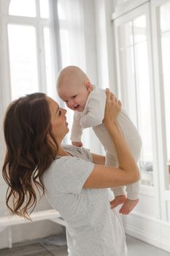
[[(93, 131), (106, 150), (105, 164), (118, 167), (115, 146), (102, 123), (106, 101), (105, 90), (93, 86), (85, 72), (76, 66), (65, 67), (61, 70), (58, 75), (57, 89), (58, 96), (66, 102), (68, 108), (74, 110), (72, 144), (74, 146), (82, 146), (82, 129), (93, 127)], [(137, 162), (142, 148), (142, 141), (125, 110), (120, 111), (117, 123)], [(139, 202), (139, 181), (126, 186), (127, 197), (125, 196), (125, 187), (111, 189), (115, 195), (111, 206), (115, 208), (123, 204), (120, 208), (121, 214), (129, 214)]]

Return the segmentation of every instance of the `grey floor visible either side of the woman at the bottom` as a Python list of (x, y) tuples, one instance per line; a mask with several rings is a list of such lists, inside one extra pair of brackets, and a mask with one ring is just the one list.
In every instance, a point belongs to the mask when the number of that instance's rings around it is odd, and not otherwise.
[[(126, 236), (128, 256), (170, 256), (169, 252)], [(15, 244), (12, 249), (1, 249), (0, 256), (67, 256), (66, 246), (47, 245), (39, 241)]]

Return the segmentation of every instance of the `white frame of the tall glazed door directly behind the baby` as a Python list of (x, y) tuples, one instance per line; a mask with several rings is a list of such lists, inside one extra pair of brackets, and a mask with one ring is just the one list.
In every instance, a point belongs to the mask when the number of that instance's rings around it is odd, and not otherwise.
[[(152, 180), (153, 180), (153, 187), (148, 187), (148, 189), (154, 189), (156, 195), (158, 196), (159, 190), (159, 181), (158, 181), (158, 151), (156, 149), (157, 146), (157, 134), (155, 131), (155, 89), (153, 86), (153, 75), (152, 75), (152, 37), (151, 37), (151, 24), (150, 24), (150, 3), (144, 3), (142, 6), (137, 7), (135, 10), (126, 13), (125, 15), (120, 16), (114, 20), (114, 34), (115, 34), (115, 53), (116, 53), (116, 60), (117, 60), (117, 93), (119, 98), (123, 98), (123, 91), (120, 82), (120, 54), (119, 54), (119, 42), (118, 42), (118, 33), (117, 28), (123, 24), (127, 23), (128, 21), (134, 20), (138, 18), (140, 15), (146, 15), (147, 21), (147, 52), (148, 52), (148, 65), (149, 65), (149, 72), (150, 72), (150, 110), (151, 110), (151, 126), (152, 126), (152, 159), (153, 159), (153, 173), (152, 173)], [(125, 97), (124, 97), (125, 98)], [(138, 118), (137, 118), (138, 119)], [(141, 186), (141, 192), (144, 192), (147, 186)]]

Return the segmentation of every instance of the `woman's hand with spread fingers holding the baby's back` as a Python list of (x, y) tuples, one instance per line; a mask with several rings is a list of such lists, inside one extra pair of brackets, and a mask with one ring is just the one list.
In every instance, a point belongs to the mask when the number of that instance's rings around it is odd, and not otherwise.
[(122, 104), (109, 89), (106, 89), (107, 99), (104, 112), (103, 123), (105, 126), (113, 124), (116, 121), (118, 114), (120, 113)]

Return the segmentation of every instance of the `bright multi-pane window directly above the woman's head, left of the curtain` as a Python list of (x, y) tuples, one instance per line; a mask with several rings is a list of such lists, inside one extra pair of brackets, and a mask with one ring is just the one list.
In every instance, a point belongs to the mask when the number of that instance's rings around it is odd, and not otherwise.
[(53, 97), (48, 0), (12, 0), (7, 15), (11, 97), (35, 91)]

